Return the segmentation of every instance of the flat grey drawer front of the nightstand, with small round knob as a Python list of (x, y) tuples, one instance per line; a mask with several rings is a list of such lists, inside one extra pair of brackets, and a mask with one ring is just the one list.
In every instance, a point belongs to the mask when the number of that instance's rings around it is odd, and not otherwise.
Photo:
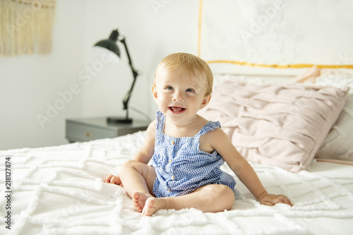
[(66, 138), (70, 139), (72, 142), (114, 138), (116, 136), (116, 131), (95, 128), (78, 123), (66, 123)]

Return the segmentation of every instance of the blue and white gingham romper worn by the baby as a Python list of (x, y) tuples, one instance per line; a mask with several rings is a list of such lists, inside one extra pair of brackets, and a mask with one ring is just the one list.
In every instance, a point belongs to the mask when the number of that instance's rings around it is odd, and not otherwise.
[(155, 153), (152, 167), (157, 178), (153, 193), (157, 198), (185, 195), (208, 184), (224, 184), (234, 188), (234, 178), (220, 169), (225, 160), (218, 154), (199, 149), (200, 136), (220, 127), (209, 121), (193, 137), (174, 138), (163, 133), (165, 117), (157, 112)]

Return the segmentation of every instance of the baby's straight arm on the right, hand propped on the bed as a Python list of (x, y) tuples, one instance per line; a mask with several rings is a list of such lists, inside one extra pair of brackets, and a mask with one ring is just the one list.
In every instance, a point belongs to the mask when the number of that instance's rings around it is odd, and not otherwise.
[(211, 147), (220, 153), (232, 171), (234, 171), (240, 181), (256, 197), (259, 203), (263, 205), (285, 203), (292, 206), (292, 203), (285, 195), (268, 194), (253, 167), (240, 155), (224, 131), (216, 128), (210, 133), (212, 136), (209, 136), (208, 140), (210, 140)]

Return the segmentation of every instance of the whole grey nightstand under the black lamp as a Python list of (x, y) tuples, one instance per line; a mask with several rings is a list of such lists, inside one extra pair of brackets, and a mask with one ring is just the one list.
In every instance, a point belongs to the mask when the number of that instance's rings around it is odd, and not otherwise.
[(73, 142), (114, 138), (137, 131), (145, 131), (147, 121), (133, 120), (133, 123), (107, 123), (106, 117), (90, 119), (66, 119), (66, 139)]

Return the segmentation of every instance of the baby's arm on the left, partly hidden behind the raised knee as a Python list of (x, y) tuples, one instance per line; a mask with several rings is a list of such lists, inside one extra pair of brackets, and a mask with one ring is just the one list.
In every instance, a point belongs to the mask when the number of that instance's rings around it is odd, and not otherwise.
[[(155, 121), (150, 123), (146, 131), (146, 140), (143, 145), (138, 149), (136, 154), (133, 156), (133, 160), (148, 164), (152, 158), (153, 152), (155, 151)], [(119, 186), (123, 186), (119, 176), (109, 175), (104, 178), (104, 183), (114, 183)]]

